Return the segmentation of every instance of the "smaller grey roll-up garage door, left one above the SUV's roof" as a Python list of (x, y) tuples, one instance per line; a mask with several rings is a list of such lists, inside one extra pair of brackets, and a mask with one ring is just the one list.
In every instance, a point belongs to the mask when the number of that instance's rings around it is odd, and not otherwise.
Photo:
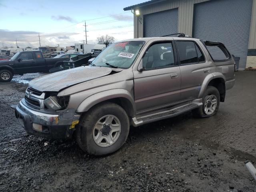
[(178, 9), (144, 15), (144, 37), (178, 33)]

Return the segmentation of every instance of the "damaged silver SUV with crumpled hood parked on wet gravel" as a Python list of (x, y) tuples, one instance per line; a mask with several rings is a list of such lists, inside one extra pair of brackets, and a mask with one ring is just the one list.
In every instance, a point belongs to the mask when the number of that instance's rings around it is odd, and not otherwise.
[(130, 125), (217, 113), (234, 86), (235, 62), (219, 42), (138, 38), (108, 46), (89, 66), (30, 81), (15, 114), (28, 134), (75, 137), (85, 152), (111, 154)]

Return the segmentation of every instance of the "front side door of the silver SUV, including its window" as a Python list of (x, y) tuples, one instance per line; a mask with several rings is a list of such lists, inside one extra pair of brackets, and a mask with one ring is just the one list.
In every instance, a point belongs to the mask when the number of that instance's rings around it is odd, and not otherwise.
[(180, 100), (180, 68), (172, 41), (154, 42), (134, 71), (137, 112), (165, 108)]

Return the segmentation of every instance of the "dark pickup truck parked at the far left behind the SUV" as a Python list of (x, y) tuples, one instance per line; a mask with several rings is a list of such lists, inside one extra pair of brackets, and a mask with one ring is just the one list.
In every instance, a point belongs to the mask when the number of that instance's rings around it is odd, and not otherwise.
[(0, 62), (0, 81), (11, 81), (15, 74), (49, 72), (66, 59), (68, 58), (45, 59), (41, 51), (18, 52), (10, 60)]

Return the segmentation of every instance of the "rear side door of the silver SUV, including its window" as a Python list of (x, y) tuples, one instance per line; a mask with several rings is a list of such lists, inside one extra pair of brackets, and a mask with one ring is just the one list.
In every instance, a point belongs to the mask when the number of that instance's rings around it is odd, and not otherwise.
[(202, 48), (189, 40), (176, 40), (181, 73), (181, 100), (198, 98), (204, 78), (210, 73)]

